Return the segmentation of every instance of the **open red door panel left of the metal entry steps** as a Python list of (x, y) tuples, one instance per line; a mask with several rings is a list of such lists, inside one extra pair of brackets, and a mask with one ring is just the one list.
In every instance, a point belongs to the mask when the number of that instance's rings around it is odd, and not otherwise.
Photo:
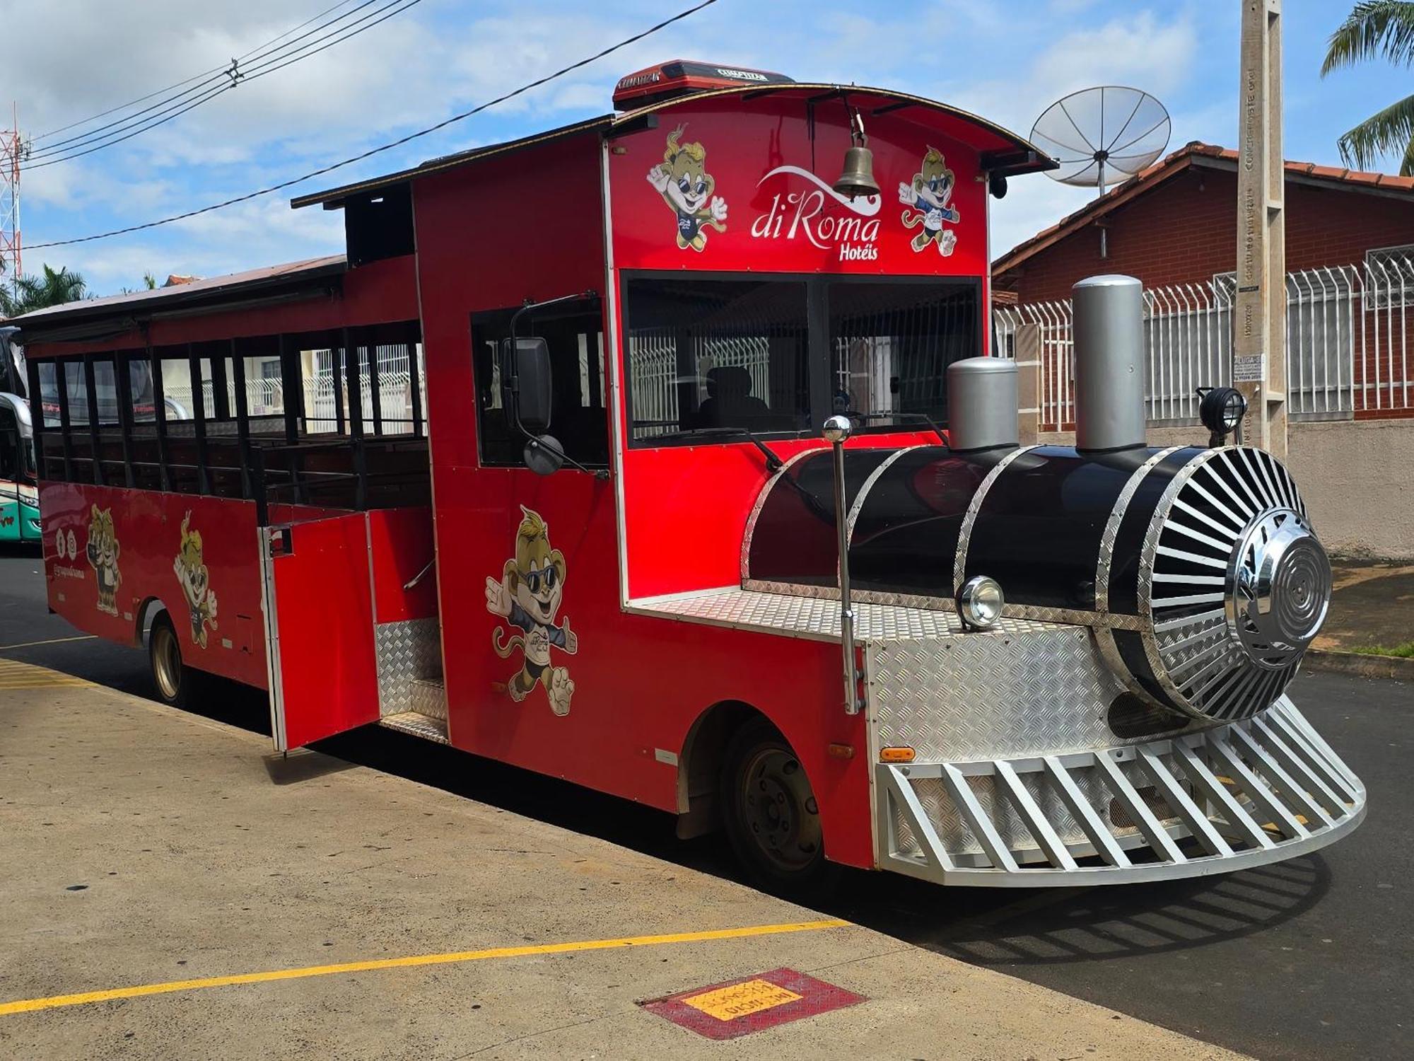
[(270, 572), (283, 746), (294, 748), (376, 721), (379, 705), (365, 514), (296, 523), (288, 540)]

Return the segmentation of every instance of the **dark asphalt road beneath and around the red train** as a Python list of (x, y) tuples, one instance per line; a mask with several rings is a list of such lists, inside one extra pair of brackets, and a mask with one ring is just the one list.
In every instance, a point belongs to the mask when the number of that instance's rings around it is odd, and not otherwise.
[[(0, 656), (147, 695), (141, 651), (55, 641), (38, 557), (0, 552)], [(49, 644), (31, 644), (49, 642)], [(11, 645), (27, 645), (10, 648)], [(1366, 822), (1325, 852), (1208, 880), (1089, 890), (940, 890), (853, 873), (824, 911), (1258, 1058), (1414, 1053), (1414, 690), (1308, 675), (1292, 699), (1370, 791)], [(212, 682), (201, 712), (267, 730), (264, 699)], [(672, 819), (386, 730), (321, 751), (724, 877), (715, 837), (682, 843)], [(939, 1000), (946, 1004), (946, 1000)]]

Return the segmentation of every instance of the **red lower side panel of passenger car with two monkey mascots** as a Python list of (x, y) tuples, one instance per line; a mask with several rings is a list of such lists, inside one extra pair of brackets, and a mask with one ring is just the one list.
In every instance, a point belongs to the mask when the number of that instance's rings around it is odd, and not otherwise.
[[(134, 644), (144, 604), (157, 600), (188, 663), (264, 688), (255, 502), (44, 482), (40, 509), (51, 608), (89, 634)], [(109, 586), (112, 598), (100, 594)]]

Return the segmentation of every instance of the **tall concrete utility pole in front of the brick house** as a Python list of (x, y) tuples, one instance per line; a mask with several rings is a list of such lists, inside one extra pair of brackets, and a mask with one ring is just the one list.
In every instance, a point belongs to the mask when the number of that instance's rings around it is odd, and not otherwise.
[(1287, 226), (1281, 150), (1281, 0), (1241, 0), (1237, 300), (1233, 383), (1246, 441), (1287, 457)]

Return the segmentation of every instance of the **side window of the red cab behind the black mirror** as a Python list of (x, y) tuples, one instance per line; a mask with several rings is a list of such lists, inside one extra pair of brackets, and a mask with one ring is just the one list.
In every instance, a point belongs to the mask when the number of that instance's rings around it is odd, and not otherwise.
[[(510, 335), (515, 310), (478, 313), (471, 318), (471, 351), (477, 382), (477, 437), (485, 467), (519, 467), (525, 436), (505, 407), (501, 341)], [(604, 398), (604, 317), (600, 304), (567, 303), (543, 314), (523, 314), (519, 337), (540, 335), (550, 348), (554, 402), (549, 433), (564, 453), (591, 468), (608, 467), (609, 427)]]

